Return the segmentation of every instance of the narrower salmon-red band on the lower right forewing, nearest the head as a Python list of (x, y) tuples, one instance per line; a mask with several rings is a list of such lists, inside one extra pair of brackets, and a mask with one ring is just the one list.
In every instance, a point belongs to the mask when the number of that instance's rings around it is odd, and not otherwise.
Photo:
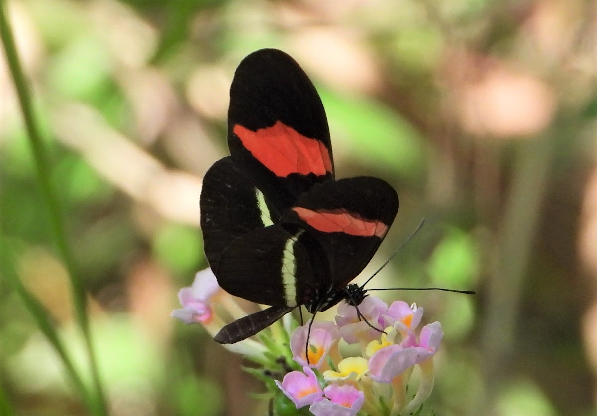
[(303, 207), (294, 207), (298, 217), (314, 229), (324, 233), (346, 233), (361, 237), (384, 238), (386, 224), (381, 221), (364, 220), (356, 214), (342, 211), (312, 211)]

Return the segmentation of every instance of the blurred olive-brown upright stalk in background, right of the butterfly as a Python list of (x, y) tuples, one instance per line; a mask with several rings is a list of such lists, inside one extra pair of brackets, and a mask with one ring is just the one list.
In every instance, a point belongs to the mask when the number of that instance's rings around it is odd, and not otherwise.
[(481, 331), (486, 396), (479, 400), (478, 411), (486, 411), (487, 403), (493, 402), (506, 376), (504, 369), (510, 368), (524, 279), (547, 192), (556, 140), (558, 135), (573, 137), (567, 135), (570, 121), (560, 119), (559, 123), (567, 131), (554, 128), (546, 135), (521, 143), (516, 155), (496, 265), (487, 285), (490, 295)]

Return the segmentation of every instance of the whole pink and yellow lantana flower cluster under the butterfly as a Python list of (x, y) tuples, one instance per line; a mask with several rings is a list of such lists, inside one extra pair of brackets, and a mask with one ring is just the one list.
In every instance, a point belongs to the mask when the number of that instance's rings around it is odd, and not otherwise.
[[(230, 303), (232, 296), (217, 286), (210, 270), (199, 272), (193, 286), (181, 289), (183, 308), (172, 315), (186, 323), (201, 323), (215, 335), (224, 325), (214, 313), (216, 298), (226, 304), (234, 319), (242, 314), (238, 305)], [(267, 371), (275, 380), (266, 386), (277, 390), (272, 391), (274, 396), (282, 392), (296, 409), (308, 406), (314, 415), (338, 416), (418, 414), (432, 391), (433, 356), (444, 335), (441, 324), (433, 322), (417, 331), (423, 308), (404, 301), (388, 306), (380, 298), (367, 296), (358, 309), (359, 313), (342, 302), (334, 322), (315, 321), (311, 326), (307, 322), (297, 328), (285, 325), (286, 336), (278, 337), (282, 346), (263, 337), (261, 343), (244, 340), (226, 347), (260, 363), (282, 351), (276, 362), (284, 362), (284, 371)], [(420, 380), (413, 394), (408, 385), (416, 366)], [(267, 378), (263, 374), (260, 378)]]

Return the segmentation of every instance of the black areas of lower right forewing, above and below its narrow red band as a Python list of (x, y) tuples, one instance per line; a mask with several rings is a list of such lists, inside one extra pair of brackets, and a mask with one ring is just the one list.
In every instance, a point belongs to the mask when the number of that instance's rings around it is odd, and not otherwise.
[[(386, 181), (355, 177), (318, 184), (298, 198), (294, 206), (312, 211), (349, 212), (365, 220), (379, 221), (389, 229), (398, 212), (398, 204), (396, 191)], [(357, 236), (345, 232), (321, 232), (298, 218), (292, 210), (283, 214), (281, 221), (283, 226), (291, 224), (306, 230), (299, 242), (310, 254), (315, 251), (325, 253), (330, 273), (315, 279), (320, 290), (346, 286), (367, 266), (385, 237), (385, 234)]]

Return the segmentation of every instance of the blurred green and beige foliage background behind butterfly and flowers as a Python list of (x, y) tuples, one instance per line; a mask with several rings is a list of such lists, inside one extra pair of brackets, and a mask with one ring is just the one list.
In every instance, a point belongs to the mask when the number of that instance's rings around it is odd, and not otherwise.
[[(597, 371), (597, 2), (5, 1), (87, 292), (113, 415), (264, 414), (260, 383), (170, 318), (207, 267), (205, 171), (228, 89), (280, 48), (318, 87), (338, 177), (401, 208), (370, 287), (442, 322), (437, 415), (592, 415)], [(0, 56), (0, 221), (20, 281), (86, 373), (67, 272)], [(7, 249), (7, 247), (4, 247)], [(8, 273), (2, 267), (2, 273)], [(63, 362), (0, 278), (0, 387), (20, 415), (84, 415)]]

